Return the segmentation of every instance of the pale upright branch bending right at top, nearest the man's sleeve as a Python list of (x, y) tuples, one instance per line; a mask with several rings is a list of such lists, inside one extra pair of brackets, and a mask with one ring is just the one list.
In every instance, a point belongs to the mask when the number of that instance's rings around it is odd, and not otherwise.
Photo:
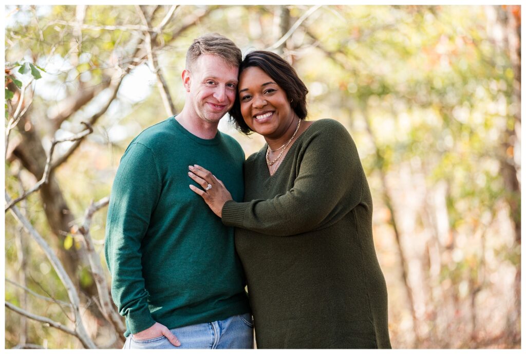
[(78, 232), (83, 236), (84, 244), (86, 245), (89, 265), (91, 267), (93, 279), (95, 280), (98, 290), (100, 311), (103, 313), (108, 322), (112, 323), (117, 332), (124, 333), (126, 331), (126, 327), (124, 326), (123, 318), (119, 315), (119, 313), (117, 313), (113, 306), (106, 277), (104, 276), (104, 270), (102, 264), (100, 263), (100, 257), (95, 251), (93, 239), (89, 233), (89, 225), (92, 222), (93, 215), (96, 213), (96, 211), (107, 206), (108, 203), (109, 197), (104, 197), (96, 203), (92, 203), (86, 210), (84, 215), (84, 223), (78, 228)]

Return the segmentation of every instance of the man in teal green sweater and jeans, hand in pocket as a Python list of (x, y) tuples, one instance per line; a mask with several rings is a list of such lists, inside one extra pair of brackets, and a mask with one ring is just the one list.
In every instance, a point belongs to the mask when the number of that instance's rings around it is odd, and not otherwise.
[(126, 317), (124, 348), (252, 348), (252, 320), (234, 230), (188, 188), (189, 165), (209, 166), (243, 196), (244, 153), (217, 130), (237, 95), (241, 51), (218, 34), (186, 56), (186, 100), (126, 149), (108, 208), (105, 255)]

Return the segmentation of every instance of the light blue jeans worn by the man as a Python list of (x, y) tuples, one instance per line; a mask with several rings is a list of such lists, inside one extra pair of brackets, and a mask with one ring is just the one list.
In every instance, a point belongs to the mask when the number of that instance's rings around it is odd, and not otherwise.
[(129, 335), (123, 349), (254, 349), (254, 322), (250, 313), (170, 331), (179, 339), (180, 347), (165, 336), (135, 340)]

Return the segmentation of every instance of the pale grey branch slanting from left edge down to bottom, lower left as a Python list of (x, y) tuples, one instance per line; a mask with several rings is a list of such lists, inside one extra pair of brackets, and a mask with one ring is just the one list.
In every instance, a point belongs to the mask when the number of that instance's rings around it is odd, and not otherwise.
[[(11, 198), (7, 195), (7, 191), (5, 192), (5, 199), (7, 203), (11, 202)], [(75, 286), (73, 285), (73, 282), (67, 275), (66, 270), (64, 269), (64, 266), (62, 265), (62, 262), (57, 258), (55, 255), (55, 252), (47, 242), (44, 240), (44, 238), (38, 233), (37, 230), (33, 228), (31, 225), (31, 222), (27, 220), (27, 218), (20, 213), (20, 210), (16, 206), (13, 206), (10, 208), (11, 213), (15, 216), (15, 218), (20, 222), (29, 235), (31, 235), (37, 244), (42, 248), (44, 253), (46, 254), (47, 259), (51, 262), (51, 265), (55, 269), (59, 279), (62, 281), (62, 284), (64, 284), (64, 287), (66, 288), (69, 301), (71, 301), (73, 313), (75, 315), (75, 336), (80, 339), (82, 344), (85, 348), (95, 349), (95, 343), (92, 341), (91, 338), (89, 338), (86, 329), (84, 328), (84, 324), (82, 322), (82, 318), (80, 316), (80, 310), (79, 310), (79, 304), (80, 300), (78, 298), (77, 290), (75, 289)], [(6, 302), (7, 306), (7, 302)], [(26, 312), (27, 313), (27, 312)], [(34, 318), (34, 317), (32, 317)], [(58, 328), (58, 327), (57, 327)]]

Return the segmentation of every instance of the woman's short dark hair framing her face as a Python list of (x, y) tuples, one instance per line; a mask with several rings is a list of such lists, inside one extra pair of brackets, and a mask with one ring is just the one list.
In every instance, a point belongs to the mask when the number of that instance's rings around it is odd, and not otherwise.
[[(296, 70), (282, 59), (279, 55), (266, 50), (255, 50), (245, 56), (241, 65), (239, 66), (239, 76), (243, 70), (256, 66), (263, 70), (279, 87), (281, 87), (287, 99), (292, 102), (290, 107), (294, 110), (300, 119), (307, 117), (307, 86), (301, 81)], [(245, 134), (251, 134), (252, 129), (245, 123), (245, 119), (241, 115), (239, 95), (236, 95), (234, 106), (228, 112), (230, 115), (230, 122), (236, 125), (236, 128)]]

